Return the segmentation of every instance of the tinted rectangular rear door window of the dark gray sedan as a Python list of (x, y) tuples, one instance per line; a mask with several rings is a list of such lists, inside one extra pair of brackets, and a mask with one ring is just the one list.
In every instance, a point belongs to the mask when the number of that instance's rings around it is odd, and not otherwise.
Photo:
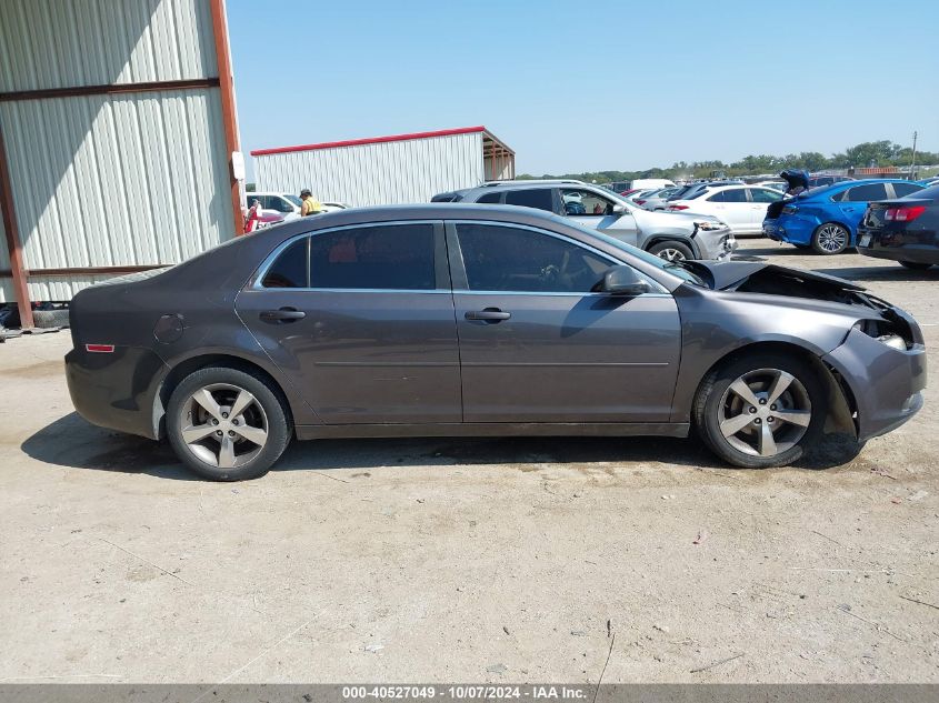
[(433, 290), (433, 225), (391, 224), (313, 234), (310, 288)]

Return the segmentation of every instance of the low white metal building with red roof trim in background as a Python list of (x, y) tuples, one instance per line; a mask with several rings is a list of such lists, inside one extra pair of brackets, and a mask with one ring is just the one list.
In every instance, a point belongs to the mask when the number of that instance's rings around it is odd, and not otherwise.
[(259, 191), (353, 207), (427, 202), (439, 192), (516, 175), (516, 152), (485, 127), (258, 149)]

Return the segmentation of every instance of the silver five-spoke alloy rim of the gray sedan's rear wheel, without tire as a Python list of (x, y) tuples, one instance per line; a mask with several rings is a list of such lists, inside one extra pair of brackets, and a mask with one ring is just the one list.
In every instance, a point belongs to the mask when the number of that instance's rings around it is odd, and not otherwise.
[(267, 444), (264, 409), (258, 399), (237, 385), (204, 385), (182, 403), (180, 413), (182, 441), (211, 466), (242, 466)]

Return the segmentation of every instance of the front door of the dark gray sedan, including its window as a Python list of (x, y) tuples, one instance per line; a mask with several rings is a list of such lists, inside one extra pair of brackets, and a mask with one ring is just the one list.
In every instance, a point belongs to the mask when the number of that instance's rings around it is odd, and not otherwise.
[(675, 300), (591, 293), (613, 263), (555, 233), (447, 225), (466, 422), (668, 422)]

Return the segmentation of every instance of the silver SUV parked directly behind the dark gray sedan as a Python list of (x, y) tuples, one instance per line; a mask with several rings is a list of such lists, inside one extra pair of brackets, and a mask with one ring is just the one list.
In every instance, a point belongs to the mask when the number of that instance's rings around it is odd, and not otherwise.
[[(469, 188), (457, 200), (480, 204), (525, 205), (553, 212), (668, 260), (729, 255), (737, 240), (728, 227), (708, 215), (649, 212), (600, 185), (580, 181), (515, 181)], [(442, 202), (451, 193), (433, 197)]]

